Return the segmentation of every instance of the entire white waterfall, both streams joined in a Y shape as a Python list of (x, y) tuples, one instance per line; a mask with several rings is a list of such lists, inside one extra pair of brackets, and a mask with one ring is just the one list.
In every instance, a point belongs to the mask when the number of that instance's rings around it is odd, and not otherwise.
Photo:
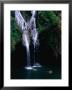
[[(26, 46), (26, 50), (27, 50), (27, 66), (25, 67), (26, 69), (33, 69), (33, 67), (41, 67), (41, 65), (36, 63), (36, 61), (35, 61), (35, 48), (39, 44), (38, 32), (36, 29), (36, 18), (35, 18), (36, 11), (32, 11), (31, 13), (32, 13), (32, 16), (31, 16), (30, 21), (26, 22), (24, 20), (24, 18), (22, 17), (20, 11), (18, 11), (18, 10), (15, 11), (16, 21), (22, 32), (23, 45)], [(30, 62), (29, 29), (31, 30), (30, 32), (31, 32), (31, 37), (33, 40), (33, 45), (34, 45), (34, 65), (33, 66), (31, 66), (31, 62)]]

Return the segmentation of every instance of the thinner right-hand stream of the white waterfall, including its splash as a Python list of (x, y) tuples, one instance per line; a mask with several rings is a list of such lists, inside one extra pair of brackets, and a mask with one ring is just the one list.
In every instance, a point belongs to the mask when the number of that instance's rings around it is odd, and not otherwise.
[(39, 63), (36, 63), (35, 61), (35, 49), (36, 47), (39, 45), (39, 40), (38, 40), (38, 31), (36, 29), (36, 11), (32, 11), (32, 17), (30, 19), (30, 25), (31, 25), (31, 36), (32, 36), (32, 40), (33, 40), (33, 45), (34, 45), (34, 65), (33, 67), (41, 67), (41, 65)]

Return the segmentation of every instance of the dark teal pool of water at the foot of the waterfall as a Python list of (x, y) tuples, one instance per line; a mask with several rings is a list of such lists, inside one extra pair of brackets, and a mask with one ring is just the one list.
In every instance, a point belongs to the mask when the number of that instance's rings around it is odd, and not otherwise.
[(42, 66), (33, 70), (19, 67), (12, 68), (11, 79), (61, 79), (61, 72), (58, 67)]

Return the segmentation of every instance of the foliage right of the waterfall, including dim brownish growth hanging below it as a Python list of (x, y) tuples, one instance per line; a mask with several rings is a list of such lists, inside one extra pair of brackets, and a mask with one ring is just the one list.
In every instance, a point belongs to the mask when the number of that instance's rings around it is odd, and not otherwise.
[(39, 11), (38, 32), (48, 33), (48, 46), (55, 54), (61, 54), (61, 12), (60, 11)]

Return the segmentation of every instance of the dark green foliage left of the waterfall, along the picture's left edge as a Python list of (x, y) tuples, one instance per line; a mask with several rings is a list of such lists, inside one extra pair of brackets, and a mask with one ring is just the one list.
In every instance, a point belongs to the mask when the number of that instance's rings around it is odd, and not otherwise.
[(21, 32), (16, 24), (15, 18), (11, 17), (11, 48), (15, 49), (16, 43), (21, 40)]

